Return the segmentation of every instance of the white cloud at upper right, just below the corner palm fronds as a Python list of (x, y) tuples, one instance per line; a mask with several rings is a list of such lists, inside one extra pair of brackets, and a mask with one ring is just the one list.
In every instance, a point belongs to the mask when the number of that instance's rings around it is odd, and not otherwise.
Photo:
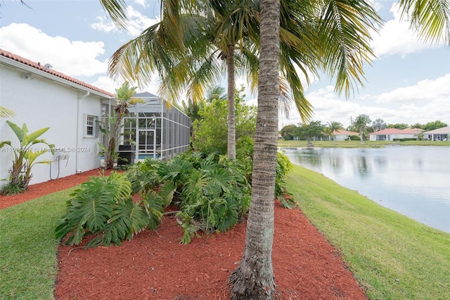
[(388, 20), (378, 33), (372, 34), (371, 46), (378, 58), (387, 55), (406, 56), (423, 49), (430, 49), (430, 45), (421, 42), (417, 33), (410, 28), (409, 20), (400, 18), (398, 7), (397, 3), (392, 4), (390, 12), (394, 19)]

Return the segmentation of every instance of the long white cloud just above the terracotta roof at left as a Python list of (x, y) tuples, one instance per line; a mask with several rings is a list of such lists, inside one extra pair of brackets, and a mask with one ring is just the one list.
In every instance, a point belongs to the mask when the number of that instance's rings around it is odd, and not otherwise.
[(105, 53), (103, 42), (51, 37), (23, 23), (1, 27), (0, 41), (6, 51), (41, 64), (50, 63), (54, 70), (73, 77), (105, 73), (108, 68), (106, 61), (98, 60)]

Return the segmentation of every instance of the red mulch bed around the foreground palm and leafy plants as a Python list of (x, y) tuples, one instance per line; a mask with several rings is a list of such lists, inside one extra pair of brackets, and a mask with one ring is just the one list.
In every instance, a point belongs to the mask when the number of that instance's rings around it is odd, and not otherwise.
[[(91, 170), (0, 196), (0, 209), (79, 185)], [(228, 278), (243, 255), (245, 223), (180, 244), (182, 229), (165, 216), (121, 246), (58, 247), (56, 299), (229, 299)], [(298, 209), (275, 205), (273, 246), (278, 299), (367, 299), (337, 251)]]

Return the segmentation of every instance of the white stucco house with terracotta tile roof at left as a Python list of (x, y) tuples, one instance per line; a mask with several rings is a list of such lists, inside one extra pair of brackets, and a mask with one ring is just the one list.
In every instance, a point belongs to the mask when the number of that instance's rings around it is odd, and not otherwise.
[[(0, 118), (0, 141), (18, 146), (6, 123), (10, 120), (20, 127), (25, 123), (30, 133), (50, 127), (39, 138), (56, 147), (55, 155), (49, 152), (39, 156), (53, 162), (34, 165), (30, 185), (100, 166), (97, 143), (101, 136), (96, 121), (101, 119), (102, 105), (110, 107), (115, 99), (114, 94), (53, 70), (49, 63), (30, 61), (0, 49), (0, 106), (15, 113), (11, 118)], [(6, 147), (0, 149), (1, 180), (8, 180), (13, 157)], [(0, 185), (6, 183), (0, 181)]]

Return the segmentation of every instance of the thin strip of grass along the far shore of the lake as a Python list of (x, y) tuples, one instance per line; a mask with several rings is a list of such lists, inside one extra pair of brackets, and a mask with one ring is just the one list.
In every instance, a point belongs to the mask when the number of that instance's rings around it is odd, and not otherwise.
[[(406, 142), (387, 142), (387, 141), (377, 141), (371, 142), (366, 141), (361, 144), (359, 141), (313, 141), (312, 144), (316, 147), (339, 147), (339, 148), (375, 148), (384, 147), (389, 145), (400, 145), (400, 146), (450, 146), (450, 141), (406, 141)], [(306, 141), (285, 141), (283, 139), (278, 140), (279, 147), (306, 147)]]

